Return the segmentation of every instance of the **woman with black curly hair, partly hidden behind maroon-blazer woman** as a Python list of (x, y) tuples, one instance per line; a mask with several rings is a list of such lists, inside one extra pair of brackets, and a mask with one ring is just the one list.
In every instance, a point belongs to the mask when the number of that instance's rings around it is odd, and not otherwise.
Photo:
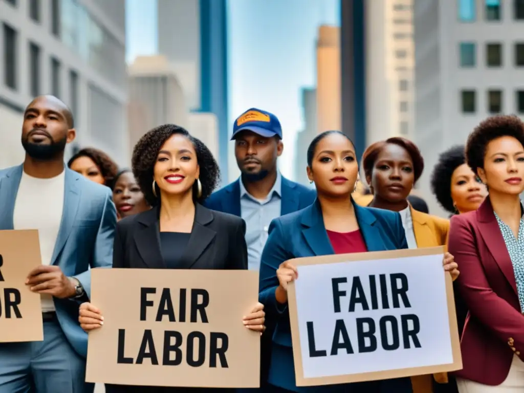
[(441, 206), (451, 214), (477, 210), (487, 189), (466, 163), (464, 145), (444, 151), (433, 168), (431, 190)]

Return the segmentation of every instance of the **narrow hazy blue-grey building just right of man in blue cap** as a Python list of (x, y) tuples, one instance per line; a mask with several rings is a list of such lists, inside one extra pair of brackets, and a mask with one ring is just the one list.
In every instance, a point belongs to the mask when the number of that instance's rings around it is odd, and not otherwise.
[(316, 126), (316, 89), (302, 89), (302, 119), (304, 128), (297, 135), (294, 180), (298, 183), (309, 185), (305, 168), (307, 166), (308, 147), (313, 138), (318, 134)]

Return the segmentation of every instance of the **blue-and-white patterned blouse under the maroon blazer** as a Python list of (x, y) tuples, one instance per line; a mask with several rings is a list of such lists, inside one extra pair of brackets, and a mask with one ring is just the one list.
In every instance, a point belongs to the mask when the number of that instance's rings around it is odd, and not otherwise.
[(495, 217), (502, 237), (504, 238), (504, 243), (506, 243), (511, 264), (513, 265), (520, 310), (524, 311), (524, 218), (520, 217), (519, 235), (518, 238), (515, 238), (511, 228), (500, 220), (497, 213), (495, 213)]

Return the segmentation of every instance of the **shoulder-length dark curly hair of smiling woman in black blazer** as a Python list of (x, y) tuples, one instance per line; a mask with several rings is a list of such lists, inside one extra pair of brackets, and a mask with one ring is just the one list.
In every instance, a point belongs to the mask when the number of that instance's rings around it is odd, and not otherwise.
[(211, 195), (220, 182), (219, 165), (216, 163), (211, 151), (200, 139), (189, 135), (187, 130), (174, 124), (165, 124), (155, 127), (140, 138), (133, 149), (133, 158), (131, 160), (135, 179), (144, 193), (144, 198), (150, 206), (158, 205), (160, 198), (158, 186), (158, 198), (152, 191), (154, 180), (153, 174), (155, 163), (157, 162), (158, 151), (162, 145), (166, 143), (166, 140), (174, 134), (180, 134), (188, 138), (193, 144), (196, 152), (196, 162), (198, 162), (200, 167), (199, 179), (202, 185), (202, 194), (200, 195), (200, 198), (196, 198), (198, 188), (195, 182), (193, 185), (193, 201), (202, 203), (209, 195)]

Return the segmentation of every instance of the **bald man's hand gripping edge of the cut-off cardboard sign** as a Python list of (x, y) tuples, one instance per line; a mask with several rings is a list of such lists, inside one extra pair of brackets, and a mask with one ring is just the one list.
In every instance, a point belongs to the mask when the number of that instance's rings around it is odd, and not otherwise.
[(27, 276), (26, 285), (33, 292), (47, 293), (59, 299), (68, 299), (75, 295), (73, 282), (55, 265), (40, 265), (32, 269)]

